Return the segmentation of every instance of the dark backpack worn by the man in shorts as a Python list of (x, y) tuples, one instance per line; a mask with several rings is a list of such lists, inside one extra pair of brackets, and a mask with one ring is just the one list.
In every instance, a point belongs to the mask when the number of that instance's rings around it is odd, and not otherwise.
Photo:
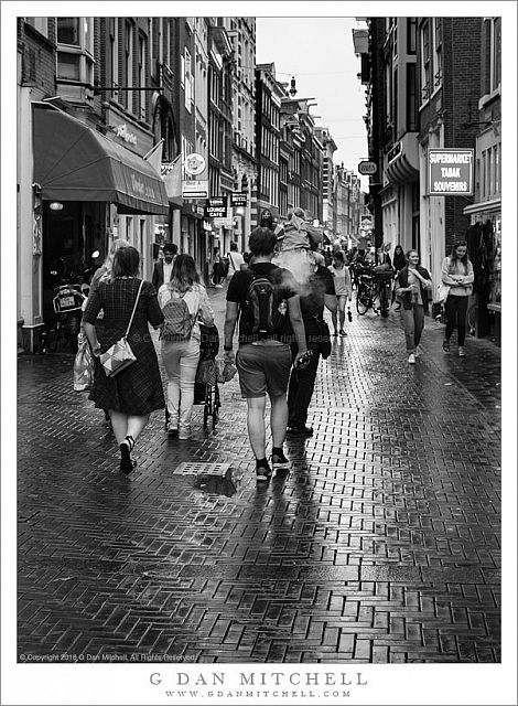
[(246, 298), (248, 327), (257, 339), (271, 339), (285, 332), (288, 302), (280, 287), (266, 275), (247, 270), (251, 277)]

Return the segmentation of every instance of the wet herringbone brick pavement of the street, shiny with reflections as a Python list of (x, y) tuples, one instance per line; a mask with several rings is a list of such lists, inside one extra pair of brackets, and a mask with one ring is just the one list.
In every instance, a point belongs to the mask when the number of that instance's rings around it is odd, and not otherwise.
[(315, 435), (287, 442), (293, 471), (267, 488), (237, 378), (215, 431), (199, 406), (188, 442), (153, 415), (127, 478), (72, 356), (21, 356), (19, 653), (499, 662), (499, 349), (446, 355), (428, 320), (410, 366), (397, 313), (347, 331)]

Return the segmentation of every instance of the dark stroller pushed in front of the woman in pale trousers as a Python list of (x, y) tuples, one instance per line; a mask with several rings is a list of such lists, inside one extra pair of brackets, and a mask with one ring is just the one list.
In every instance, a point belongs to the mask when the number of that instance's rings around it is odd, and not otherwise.
[[(196, 378), (194, 382), (194, 404), (204, 405), (203, 409), (203, 428), (207, 428), (208, 417), (213, 418), (213, 429), (219, 418), (219, 387), (218, 387), (218, 368), (216, 355), (219, 351), (219, 334), (215, 325), (206, 327), (198, 322), (201, 342), (199, 342), (199, 361), (196, 370)], [(165, 407), (165, 428), (171, 415)]]

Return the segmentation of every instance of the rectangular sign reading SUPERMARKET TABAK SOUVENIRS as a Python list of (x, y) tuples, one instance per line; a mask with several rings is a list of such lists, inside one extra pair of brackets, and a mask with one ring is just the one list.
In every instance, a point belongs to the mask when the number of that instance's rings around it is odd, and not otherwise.
[(429, 149), (428, 195), (472, 196), (475, 150)]

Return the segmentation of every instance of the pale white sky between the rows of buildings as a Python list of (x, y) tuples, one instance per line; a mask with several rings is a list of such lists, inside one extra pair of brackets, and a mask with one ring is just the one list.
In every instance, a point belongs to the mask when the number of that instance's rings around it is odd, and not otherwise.
[[(368, 156), (365, 87), (353, 46), (353, 28), (360, 26), (347, 17), (257, 17), (256, 24), (257, 63), (273, 62), (280, 82), (295, 77), (296, 97), (314, 98), (311, 114), (336, 142), (334, 163), (355, 172)], [(361, 188), (368, 190), (368, 178), (361, 176)]]

